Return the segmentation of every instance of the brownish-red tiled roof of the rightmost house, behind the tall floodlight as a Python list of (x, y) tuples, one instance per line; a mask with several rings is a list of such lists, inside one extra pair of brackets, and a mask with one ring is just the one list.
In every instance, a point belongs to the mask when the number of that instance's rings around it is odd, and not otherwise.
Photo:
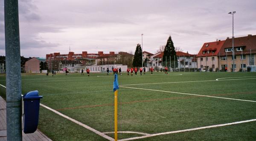
[[(237, 47), (243, 47), (243, 54), (256, 53), (256, 35), (234, 38), (234, 53), (241, 55), (241, 51), (236, 51)], [(221, 48), (220, 55), (226, 55), (225, 49), (232, 48), (232, 38), (227, 39)], [(251, 49), (251, 52), (250, 52)], [(232, 55), (232, 52), (227, 52), (227, 55)]]

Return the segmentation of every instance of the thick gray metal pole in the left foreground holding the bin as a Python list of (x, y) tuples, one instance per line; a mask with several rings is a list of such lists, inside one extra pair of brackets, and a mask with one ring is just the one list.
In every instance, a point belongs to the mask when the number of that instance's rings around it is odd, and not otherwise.
[(22, 141), (18, 0), (4, 1), (7, 140)]

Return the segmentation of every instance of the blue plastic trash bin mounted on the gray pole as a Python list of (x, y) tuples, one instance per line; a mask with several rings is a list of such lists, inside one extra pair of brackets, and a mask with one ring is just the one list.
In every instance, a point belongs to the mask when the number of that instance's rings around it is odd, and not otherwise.
[(23, 95), (23, 132), (33, 133), (38, 126), (40, 99), (38, 91), (31, 91)]

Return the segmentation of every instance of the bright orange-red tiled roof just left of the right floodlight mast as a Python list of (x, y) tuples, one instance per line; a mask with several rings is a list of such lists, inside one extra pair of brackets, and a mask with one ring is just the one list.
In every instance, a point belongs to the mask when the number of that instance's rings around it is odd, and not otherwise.
[[(213, 55), (216, 56), (218, 55), (218, 52), (221, 50), (221, 47), (223, 46), (224, 43), (225, 43), (225, 40), (204, 43), (204, 45), (202, 46), (202, 48), (200, 49), (196, 57), (200, 57), (200, 56), (203, 57), (203, 56), (209, 56), (209, 55), (212, 56), (212, 51), (215, 51)], [(207, 54), (208, 50), (210, 51), (209, 54)], [(203, 51), (205, 51), (205, 54), (203, 54)]]

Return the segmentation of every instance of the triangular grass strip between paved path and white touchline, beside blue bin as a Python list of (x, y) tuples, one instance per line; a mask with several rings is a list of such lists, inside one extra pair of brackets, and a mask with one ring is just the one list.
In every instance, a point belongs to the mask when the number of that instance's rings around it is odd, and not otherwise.
[(53, 141), (108, 141), (43, 107), (40, 108), (38, 129)]

